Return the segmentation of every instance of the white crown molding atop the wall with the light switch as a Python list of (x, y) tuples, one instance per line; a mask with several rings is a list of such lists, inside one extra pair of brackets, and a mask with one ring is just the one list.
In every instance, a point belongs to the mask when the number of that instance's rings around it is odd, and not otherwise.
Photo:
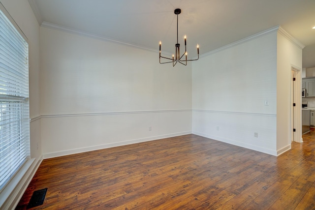
[(238, 40), (238, 41), (232, 42), (231, 44), (227, 44), (227, 45), (224, 45), (223, 47), (220, 47), (220, 48), (218, 48), (218, 49), (212, 50), (212, 51), (210, 51), (210, 52), (208, 52), (208, 53), (204, 53), (204, 54), (200, 55), (199, 57), (201, 58), (201, 57), (209, 56), (209, 55), (218, 53), (218, 52), (220, 52), (220, 51), (222, 51), (222, 50), (225, 50), (225, 49), (234, 47), (234, 46), (236, 46), (236, 45), (239, 45), (239, 44), (248, 42), (248, 41), (250, 41), (250, 40), (252, 40), (252, 39), (259, 38), (259, 37), (261, 37), (261, 36), (264, 36), (264, 35), (273, 33), (273, 32), (275, 32), (275, 31), (277, 31), (277, 30), (279, 29), (279, 27), (280, 27), (280, 26), (276, 26), (276, 27), (273, 27), (273, 28), (270, 28), (270, 29), (267, 29), (267, 30), (263, 30), (263, 31), (261, 31), (261, 32), (259, 32), (259, 33), (255, 33), (255, 34), (253, 34), (253, 35), (251, 35), (251, 36), (248, 36), (248, 37), (246, 37), (246, 38), (244, 38), (244, 39), (240, 39), (240, 40)]

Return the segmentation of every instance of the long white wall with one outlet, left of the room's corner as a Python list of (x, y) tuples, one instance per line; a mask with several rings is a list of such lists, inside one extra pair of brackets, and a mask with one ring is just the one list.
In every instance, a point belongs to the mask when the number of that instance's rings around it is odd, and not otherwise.
[(191, 65), (44, 27), (40, 45), (45, 158), (191, 133)]

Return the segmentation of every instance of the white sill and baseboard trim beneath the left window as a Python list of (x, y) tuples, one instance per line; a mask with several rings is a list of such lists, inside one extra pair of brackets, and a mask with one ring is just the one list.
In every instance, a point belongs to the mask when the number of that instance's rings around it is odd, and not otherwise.
[(10, 180), (9, 184), (2, 190), (0, 196), (0, 209), (12, 210), (18, 205), (25, 190), (35, 175), (43, 156), (39, 159), (28, 159), (19, 172)]

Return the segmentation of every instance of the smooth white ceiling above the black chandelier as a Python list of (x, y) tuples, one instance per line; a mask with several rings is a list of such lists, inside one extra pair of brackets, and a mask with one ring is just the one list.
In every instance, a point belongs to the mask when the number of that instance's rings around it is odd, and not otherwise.
[(29, 0), (39, 24), (62, 27), (162, 54), (187, 35), (196, 56), (281, 26), (306, 47), (303, 68), (315, 67), (315, 0)]

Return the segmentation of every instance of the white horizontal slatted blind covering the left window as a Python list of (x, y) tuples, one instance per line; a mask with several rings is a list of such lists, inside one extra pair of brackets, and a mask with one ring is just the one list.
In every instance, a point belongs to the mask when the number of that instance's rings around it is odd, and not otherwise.
[(30, 155), (29, 46), (0, 10), (0, 191)]

